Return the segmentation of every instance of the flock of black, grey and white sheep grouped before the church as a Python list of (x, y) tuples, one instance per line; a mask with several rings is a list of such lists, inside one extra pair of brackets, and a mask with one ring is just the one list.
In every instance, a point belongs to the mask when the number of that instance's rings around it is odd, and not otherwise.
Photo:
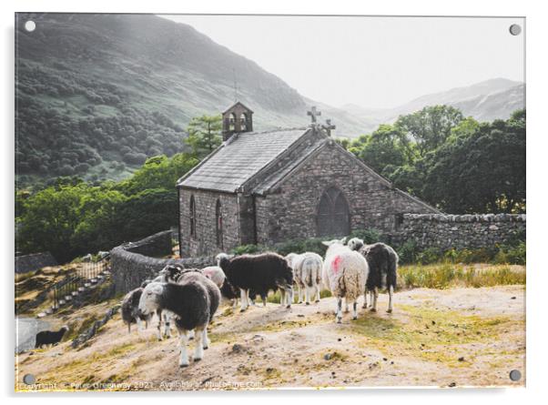
[[(171, 321), (178, 329), (179, 366), (187, 367), (188, 339), (195, 339), (193, 359), (203, 358), (208, 349), (208, 324), (218, 309), (221, 299), (231, 299), (243, 312), (254, 304), (257, 296), (267, 304), (270, 290), (280, 291), (280, 305), (290, 308), (294, 301), (293, 286), (299, 289), (298, 302), (310, 305), (313, 298), (320, 301), (320, 289), (329, 289), (337, 299), (336, 319), (342, 320), (342, 299), (345, 309), (352, 305), (352, 319), (358, 318), (358, 299), (364, 296), (362, 308), (377, 310), (379, 289), (386, 288), (392, 311), (392, 296), (396, 288), (398, 255), (383, 243), (364, 245), (359, 238), (333, 239), (326, 245), (325, 258), (316, 253), (291, 253), (285, 258), (276, 253), (231, 257), (221, 253), (218, 266), (208, 268), (181, 268), (169, 265), (157, 278), (145, 280), (142, 286), (127, 293), (122, 302), (122, 319), (137, 323), (138, 329), (157, 314), (157, 336), (163, 339), (171, 333)], [(162, 325), (164, 331), (162, 332)]]

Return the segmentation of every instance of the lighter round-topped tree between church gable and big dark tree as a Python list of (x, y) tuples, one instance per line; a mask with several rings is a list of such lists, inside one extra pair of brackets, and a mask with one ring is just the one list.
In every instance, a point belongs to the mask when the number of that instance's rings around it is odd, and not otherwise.
[(463, 116), (452, 106), (425, 106), (421, 111), (400, 116), (395, 127), (412, 137), (420, 157), (440, 147), (451, 136), (452, 128), (459, 125)]

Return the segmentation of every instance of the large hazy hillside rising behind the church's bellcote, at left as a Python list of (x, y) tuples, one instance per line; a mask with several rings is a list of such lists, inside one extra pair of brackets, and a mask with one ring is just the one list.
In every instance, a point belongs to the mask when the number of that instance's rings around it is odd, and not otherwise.
[[(24, 29), (28, 19), (34, 32)], [(313, 101), (189, 25), (155, 15), (18, 14), (17, 21), (20, 180), (116, 179), (146, 157), (173, 155), (193, 116), (234, 102), (235, 77), (256, 129), (309, 122)], [(342, 134), (364, 127), (339, 114), (330, 108)]]

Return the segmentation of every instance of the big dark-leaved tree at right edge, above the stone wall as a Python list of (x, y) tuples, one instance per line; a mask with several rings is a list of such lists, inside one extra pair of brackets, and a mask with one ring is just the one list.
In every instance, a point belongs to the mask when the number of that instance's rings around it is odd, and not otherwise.
[(456, 214), (524, 212), (524, 111), (506, 121), (469, 123), (455, 130), (452, 139), (428, 160), (424, 197), (443, 210)]

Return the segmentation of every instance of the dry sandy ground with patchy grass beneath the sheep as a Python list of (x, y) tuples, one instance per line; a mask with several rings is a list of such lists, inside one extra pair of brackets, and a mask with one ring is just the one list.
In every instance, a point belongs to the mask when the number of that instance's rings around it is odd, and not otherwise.
[[(335, 323), (334, 299), (219, 310), (205, 357), (178, 368), (178, 339), (158, 342), (156, 319), (127, 334), (120, 316), (83, 348), (64, 342), (16, 358), (17, 390), (234, 390), (283, 387), (523, 386), (525, 290), (413, 289), (395, 295), (392, 314), (360, 309)], [(113, 302), (110, 302), (112, 305)], [(107, 304), (76, 311), (85, 319)], [(177, 332), (174, 330), (174, 336)], [(192, 353), (193, 343), (189, 345)], [(32, 353), (32, 354), (31, 354)], [(512, 382), (510, 370), (522, 380)], [(27, 373), (35, 386), (21, 383)]]

